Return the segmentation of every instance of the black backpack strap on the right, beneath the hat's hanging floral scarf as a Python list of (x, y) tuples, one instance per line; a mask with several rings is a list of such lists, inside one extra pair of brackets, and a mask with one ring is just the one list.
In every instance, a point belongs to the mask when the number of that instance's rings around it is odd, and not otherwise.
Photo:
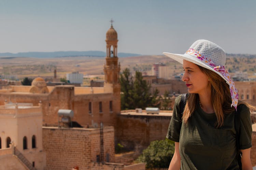
[(238, 159), (238, 165), (239, 169), (242, 169), (242, 163), (241, 163), (241, 158), (242, 158), (242, 153), (239, 150), (239, 144), (240, 144), (240, 112), (237, 107), (237, 111), (234, 113), (234, 126), (236, 130), (236, 139), (237, 139), (237, 159)]

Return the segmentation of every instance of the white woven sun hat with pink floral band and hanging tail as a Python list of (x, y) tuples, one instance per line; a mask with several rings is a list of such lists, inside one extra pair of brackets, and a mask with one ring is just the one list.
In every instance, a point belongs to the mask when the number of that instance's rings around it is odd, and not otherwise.
[(185, 54), (173, 54), (167, 52), (164, 52), (163, 54), (181, 64), (183, 64), (183, 60), (186, 60), (216, 72), (229, 84), (232, 98), (231, 107), (234, 106), (237, 109), (237, 89), (234, 87), (234, 82), (231, 80), (228, 70), (224, 67), (226, 53), (221, 47), (211, 41), (199, 39), (190, 46)]

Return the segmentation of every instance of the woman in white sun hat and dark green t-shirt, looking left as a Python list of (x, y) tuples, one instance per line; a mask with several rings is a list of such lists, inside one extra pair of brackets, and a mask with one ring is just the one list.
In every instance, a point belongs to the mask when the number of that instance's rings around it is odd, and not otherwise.
[[(252, 169), (253, 106), (238, 101), (237, 89), (225, 69), (226, 54), (208, 40), (197, 40), (185, 54), (163, 53), (183, 64), (182, 81), (189, 95), (180, 110), (175, 100), (167, 138), (175, 142), (169, 170), (239, 169), (234, 113), (240, 113), (239, 150), (242, 169)], [(182, 114), (183, 113), (183, 114)]]

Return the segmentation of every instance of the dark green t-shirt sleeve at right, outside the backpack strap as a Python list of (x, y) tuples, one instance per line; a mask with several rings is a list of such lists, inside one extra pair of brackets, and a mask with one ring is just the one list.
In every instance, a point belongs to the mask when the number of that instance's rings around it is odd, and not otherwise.
[(252, 121), (249, 108), (242, 104), (240, 111), (240, 143), (239, 149), (252, 147)]

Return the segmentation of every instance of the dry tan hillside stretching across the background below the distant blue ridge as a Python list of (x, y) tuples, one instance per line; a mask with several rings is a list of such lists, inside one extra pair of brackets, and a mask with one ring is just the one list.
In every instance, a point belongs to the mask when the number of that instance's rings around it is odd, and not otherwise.
[[(49, 77), (57, 69), (57, 77), (65, 77), (66, 73), (79, 71), (86, 74), (103, 74), (105, 57), (57, 57), (57, 58), (30, 58), (30, 57), (2, 57), (0, 58), (0, 74), (17, 75), (24, 77)], [(163, 55), (147, 55), (119, 58), (121, 71), (129, 68), (147, 72), (151, 75), (154, 63), (164, 63), (170, 67), (172, 73), (182, 72), (182, 65)], [(253, 75), (256, 72), (256, 58), (228, 57), (226, 67), (230, 72), (247, 71)]]

